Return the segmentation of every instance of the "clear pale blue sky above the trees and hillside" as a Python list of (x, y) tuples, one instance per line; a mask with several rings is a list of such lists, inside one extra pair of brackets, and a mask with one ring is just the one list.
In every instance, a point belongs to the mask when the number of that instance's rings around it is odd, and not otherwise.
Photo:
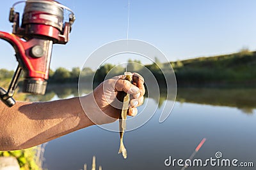
[[(8, 14), (15, 2), (1, 3), (1, 31), (12, 31)], [(128, 0), (60, 0), (60, 3), (71, 8), (77, 20), (68, 44), (53, 46), (52, 69), (82, 67), (95, 49), (126, 38)], [(130, 0), (130, 3), (129, 38), (155, 45), (169, 60), (232, 53), (243, 47), (256, 50), (255, 0)], [(20, 13), (22, 7), (17, 8)], [(12, 46), (1, 40), (0, 51), (0, 67), (15, 69)]]

